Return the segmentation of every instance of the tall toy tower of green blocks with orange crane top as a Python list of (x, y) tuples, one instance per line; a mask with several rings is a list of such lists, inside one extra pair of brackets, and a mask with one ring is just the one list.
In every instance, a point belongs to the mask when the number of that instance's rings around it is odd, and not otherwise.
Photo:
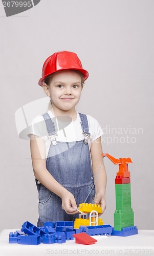
[(131, 208), (130, 172), (128, 163), (132, 163), (130, 158), (116, 159), (109, 154), (107, 156), (114, 164), (119, 165), (119, 172), (115, 178), (116, 188), (116, 210), (114, 213), (113, 236), (131, 236), (137, 234), (138, 230), (134, 226), (134, 211)]

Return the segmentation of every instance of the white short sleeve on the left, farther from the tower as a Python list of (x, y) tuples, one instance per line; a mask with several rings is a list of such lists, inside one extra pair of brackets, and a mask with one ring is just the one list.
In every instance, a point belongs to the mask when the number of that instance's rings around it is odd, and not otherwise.
[(32, 120), (29, 127), (28, 137), (30, 137), (30, 134), (33, 134), (42, 138), (48, 135), (46, 122), (41, 115), (36, 116)]

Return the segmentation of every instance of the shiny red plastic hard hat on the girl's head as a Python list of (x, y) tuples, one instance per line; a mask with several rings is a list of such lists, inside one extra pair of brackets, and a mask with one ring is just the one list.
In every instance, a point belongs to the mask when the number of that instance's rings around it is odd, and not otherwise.
[(78, 70), (83, 74), (84, 81), (89, 77), (89, 73), (82, 68), (81, 61), (76, 53), (61, 51), (53, 53), (45, 60), (42, 67), (42, 77), (38, 84), (42, 86), (43, 80), (47, 76), (62, 70)]

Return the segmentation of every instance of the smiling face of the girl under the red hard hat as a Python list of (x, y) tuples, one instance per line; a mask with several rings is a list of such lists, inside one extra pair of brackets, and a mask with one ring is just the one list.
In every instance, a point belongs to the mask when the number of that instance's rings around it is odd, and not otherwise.
[(82, 91), (81, 76), (74, 71), (60, 71), (52, 77), (47, 90), (53, 108), (75, 109)]

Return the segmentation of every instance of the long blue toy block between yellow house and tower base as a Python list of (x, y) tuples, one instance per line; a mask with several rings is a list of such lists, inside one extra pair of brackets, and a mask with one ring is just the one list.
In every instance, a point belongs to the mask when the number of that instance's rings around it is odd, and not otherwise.
[(111, 236), (112, 226), (110, 225), (102, 225), (102, 226), (89, 226), (86, 227), (86, 233), (90, 236), (104, 236), (104, 234), (108, 234)]

